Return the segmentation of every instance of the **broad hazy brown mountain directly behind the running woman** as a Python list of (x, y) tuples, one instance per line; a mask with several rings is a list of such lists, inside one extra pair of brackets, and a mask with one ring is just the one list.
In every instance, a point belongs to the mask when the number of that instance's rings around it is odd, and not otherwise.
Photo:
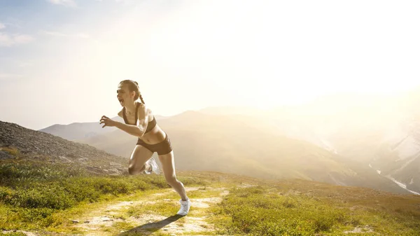
[[(258, 178), (298, 178), (338, 185), (407, 193), (371, 169), (308, 141), (283, 136), (265, 117), (219, 116), (187, 111), (160, 120), (174, 147), (176, 168), (245, 174)], [(130, 156), (137, 138), (116, 130), (78, 140), (116, 155)]]

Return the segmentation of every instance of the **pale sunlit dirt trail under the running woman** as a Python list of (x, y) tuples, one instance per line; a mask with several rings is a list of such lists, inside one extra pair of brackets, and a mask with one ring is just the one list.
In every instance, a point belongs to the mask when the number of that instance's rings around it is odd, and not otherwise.
[[(132, 201), (121, 201), (106, 205), (80, 216), (74, 227), (80, 235), (209, 235), (214, 232), (214, 225), (207, 221), (209, 209), (228, 195), (225, 188), (186, 188), (187, 193), (205, 196), (211, 191), (211, 197), (190, 197), (192, 202), (187, 216), (177, 216), (179, 199), (174, 199), (174, 190), (148, 195)], [(171, 197), (172, 198), (169, 198)], [(194, 194), (192, 194), (194, 195)], [(159, 214), (159, 207), (168, 205), (174, 209), (170, 214)], [(176, 207), (175, 207), (176, 206)], [(150, 209), (156, 207), (155, 210)], [(165, 207), (164, 207), (165, 208)], [(149, 209), (149, 210), (139, 210)], [(139, 210), (139, 214), (132, 211)], [(130, 214), (131, 212), (131, 214)]]

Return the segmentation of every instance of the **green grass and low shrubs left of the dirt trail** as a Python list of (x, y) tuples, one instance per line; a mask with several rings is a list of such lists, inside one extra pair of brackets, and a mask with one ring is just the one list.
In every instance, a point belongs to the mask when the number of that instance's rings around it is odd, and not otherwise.
[[(194, 176), (188, 184), (207, 184)], [(145, 190), (170, 188), (163, 176), (90, 176), (78, 167), (24, 160), (0, 164), (0, 228), (43, 229), (69, 221), (62, 212)]]

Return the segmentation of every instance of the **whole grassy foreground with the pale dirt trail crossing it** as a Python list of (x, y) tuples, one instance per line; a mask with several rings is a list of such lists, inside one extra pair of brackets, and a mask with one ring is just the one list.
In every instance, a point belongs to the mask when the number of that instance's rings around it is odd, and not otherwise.
[(6, 230), (3, 235), (420, 233), (420, 197), (415, 195), (220, 172), (178, 176), (194, 202), (183, 218), (174, 216), (179, 196), (162, 175), (92, 176), (66, 164), (6, 160), (0, 163), (0, 228)]

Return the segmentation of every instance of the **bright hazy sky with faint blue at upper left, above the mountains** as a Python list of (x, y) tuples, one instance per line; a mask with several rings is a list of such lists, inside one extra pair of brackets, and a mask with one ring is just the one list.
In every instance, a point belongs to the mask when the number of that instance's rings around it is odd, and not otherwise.
[(0, 120), (116, 116), (138, 81), (169, 116), (420, 83), (419, 1), (0, 0)]

